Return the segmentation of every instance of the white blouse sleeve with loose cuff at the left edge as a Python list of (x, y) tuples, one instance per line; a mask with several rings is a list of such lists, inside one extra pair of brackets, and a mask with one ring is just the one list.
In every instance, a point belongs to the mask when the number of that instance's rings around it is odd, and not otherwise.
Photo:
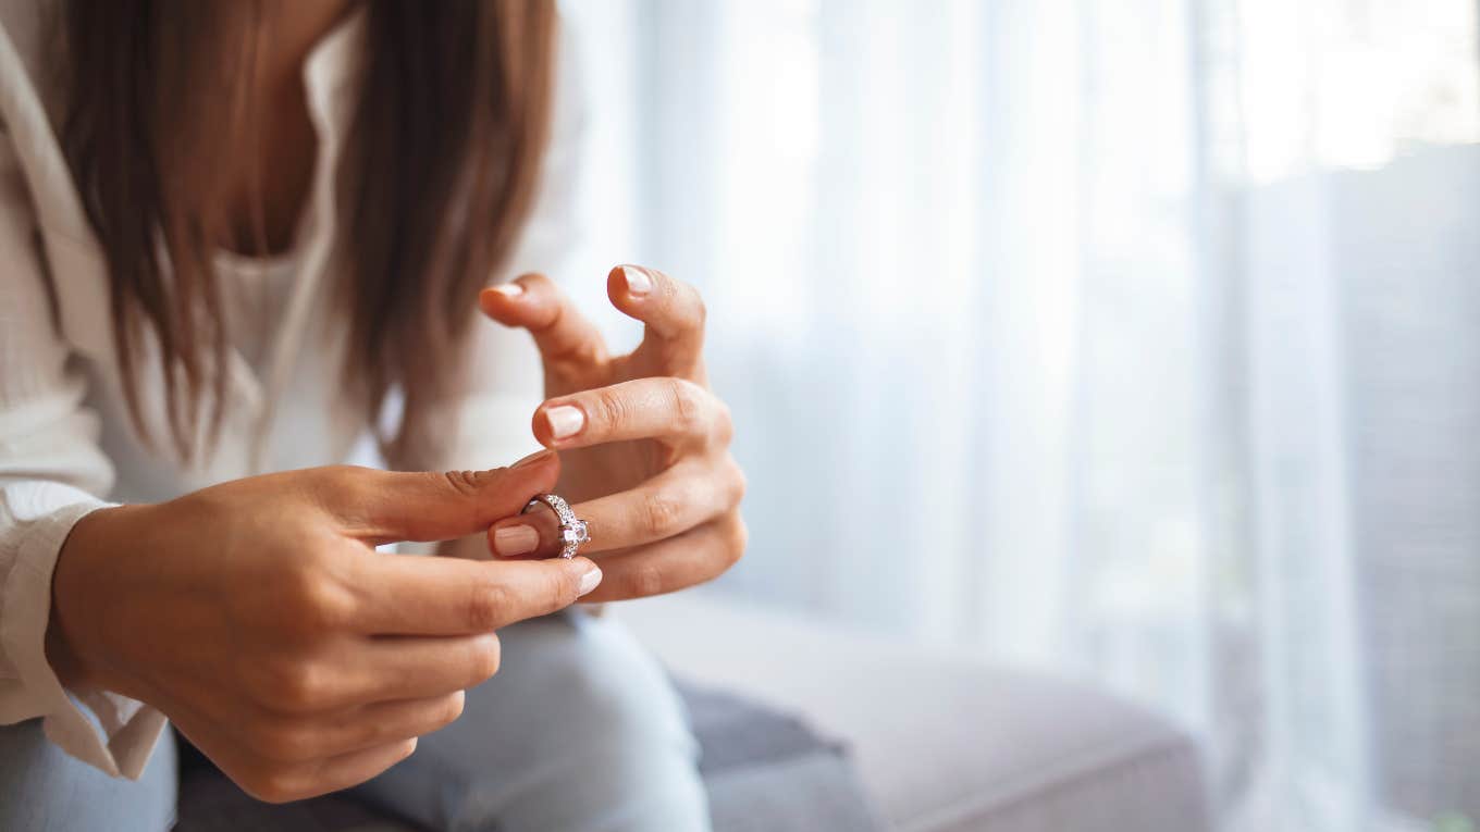
[(121, 696), (71, 693), (46, 660), (56, 555), (73, 524), (110, 505), (101, 496), (114, 475), (55, 312), (28, 189), (0, 126), (0, 724), (41, 718), (73, 756), (136, 779), (164, 717)]

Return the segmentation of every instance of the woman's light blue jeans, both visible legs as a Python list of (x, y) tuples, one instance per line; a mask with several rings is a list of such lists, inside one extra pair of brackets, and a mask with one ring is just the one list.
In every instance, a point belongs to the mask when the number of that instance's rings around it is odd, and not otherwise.
[[(499, 635), (499, 675), (462, 718), (358, 796), (457, 832), (709, 829), (678, 694), (620, 625), (567, 613)], [(170, 737), (129, 782), (67, 756), (40, 721), (0, 725), (0, 829), (167, 829), (175, 796)]]

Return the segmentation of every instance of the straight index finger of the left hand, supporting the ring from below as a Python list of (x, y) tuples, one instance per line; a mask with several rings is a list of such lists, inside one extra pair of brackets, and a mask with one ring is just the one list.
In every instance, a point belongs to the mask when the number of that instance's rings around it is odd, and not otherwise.
[(354, 620), (382, 635), (493, 632), (571, 605), (601, 582), (586, 558), (465, 561), (419, 555), (361, 558)]

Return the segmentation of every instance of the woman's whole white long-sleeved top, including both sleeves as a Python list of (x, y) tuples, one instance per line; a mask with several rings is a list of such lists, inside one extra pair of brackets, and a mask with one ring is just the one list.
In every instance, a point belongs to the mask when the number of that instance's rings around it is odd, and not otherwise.
[[(343, 462), (366, 434), (334, 383), (346, 327), (327, 327), (336, 210), (332, 172), (358, 93), (364, 12), (305, 65), (318, 158), (293, 253), (221, 258), (223, 292), (249, 309), (229, 355), (218, 453), (186, 466), (133, 432), (114, 360), (104, 255), (55, 133), (59, 98), (40, 83), (47, 0), (0, 0), (0, 724), (44, 717), (68, 754), (138, 777), (164, 727), (152, 708), (115, 694), (65, 691), (46, 662), (52, 570), (71, 527), (114, 502), (152, 502), (283, 468)], [(570, 50), (562, 49), (561, 55)], [(573, 244), (570, 218), (580, 111), (561, 61), (554, 142), (511, 274), (554, 272)], [(490, 275), (493, 278), (496, 275)], [(490, 280), (491, 281), (491, 280)], [(468, 299), (469, 315), (478, 315)], [(481, 315), (478, 315), (481, 318)], [(527, 336), (474, 324), (465, 397), (414, 437), (408, 468), (488, 468), (533, 450), (539, 357)], [(141, 406), (163, 438), (157, 360), (139, 358)], [(167, 443), (157, 443), (167, 447)]]

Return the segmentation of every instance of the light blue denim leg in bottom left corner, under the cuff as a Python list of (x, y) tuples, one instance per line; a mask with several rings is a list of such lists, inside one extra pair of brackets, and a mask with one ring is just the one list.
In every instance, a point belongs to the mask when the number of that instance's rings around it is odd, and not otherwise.
[(175, 822), (175, 794), (169, 736), (135, 782), (74, 759), (46, 739), (40, 719), (0, 725), (0, 829), (157, 832)]

